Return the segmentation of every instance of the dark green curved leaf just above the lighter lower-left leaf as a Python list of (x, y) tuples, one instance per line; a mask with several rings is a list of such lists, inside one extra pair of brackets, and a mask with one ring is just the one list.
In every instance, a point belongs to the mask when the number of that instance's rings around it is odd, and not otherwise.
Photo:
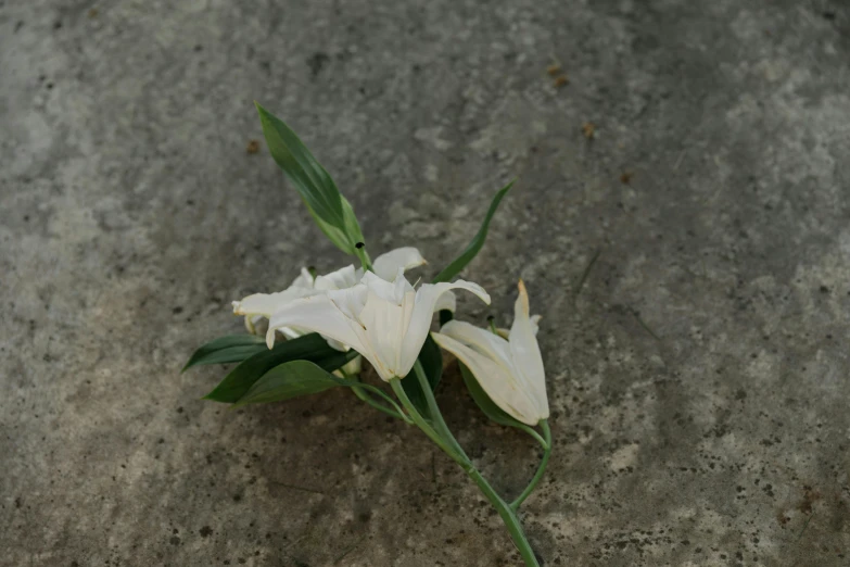
[(204, 399), (225, 403), (238, 402), (264, 374), (290, 361), (310, 361), (332, 371), (355, 356), (357, 356), (356, 351), (340, 352), (331, 349), (328, 341), (312, 332), (297, 339), (279, 342), (274, 349), (264, 349), (263, 352), (243, 361)]

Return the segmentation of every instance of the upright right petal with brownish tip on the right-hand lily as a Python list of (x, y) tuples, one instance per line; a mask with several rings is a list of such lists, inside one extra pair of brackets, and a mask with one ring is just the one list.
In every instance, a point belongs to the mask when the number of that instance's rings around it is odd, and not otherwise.
[(529, 393), (534, 399), (542, 418), (549, 416), (549, 403), (546, 398), (546, 374), (543, 369), (543, 356), (534, 337), (534, 327), (529, 315), (529, 294), (525, 285), (519, 282), (519, 298), (513, 305), (513, 325), (510, 328), (510, 352), (513, 364), (528, 383)]

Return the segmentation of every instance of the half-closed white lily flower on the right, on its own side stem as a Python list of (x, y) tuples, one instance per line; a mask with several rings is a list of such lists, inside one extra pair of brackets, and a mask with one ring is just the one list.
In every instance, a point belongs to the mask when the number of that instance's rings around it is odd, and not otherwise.
[(529, 315), (529, 294), (520, 280), (507, 340), (458, 320), (445, 324), (431, 337), (469, 368), (496, 405), (515, 419), (535, 426), (549, 417), (546, 376), (535, 337), (538, 319)]

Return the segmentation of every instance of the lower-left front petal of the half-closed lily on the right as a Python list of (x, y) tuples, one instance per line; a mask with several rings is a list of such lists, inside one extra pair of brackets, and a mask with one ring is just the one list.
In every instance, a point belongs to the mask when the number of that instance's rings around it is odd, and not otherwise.
[(541, 418), (534, 402), (504, 366), (452, 337), (441, 332), (432, 332), (431, 337), (440, 346), (457, 356), (469, 367), (481, 388), (505, 413), (523, 424), (537, 425)]

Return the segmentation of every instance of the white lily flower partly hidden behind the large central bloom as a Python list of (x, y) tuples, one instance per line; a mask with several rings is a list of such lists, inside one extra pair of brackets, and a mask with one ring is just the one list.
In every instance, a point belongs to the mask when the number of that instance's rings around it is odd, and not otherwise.
[[(383, 279), (392, 280), (396, 273), (402, 269), (407, 270), (426, 264), (426, 260), (419, 250), (415, 248), (397, 248), (375, 259), (372, 269)], [(288, 305), (290, 302), (322, 293), (330, 290), (347, 289), (356, 286), (363, 279), (363, 268), (354, 268), (348, 265), (335, 272), (323, 276), (314, 277), (307, 268), (301, 269), (301, 275), (296, 277), (289, 288), (277, 293), (254, 293), (244, 298), (242, 301), (233, 302), (233, 313), (245, 316), (245, 327), (250, 332), (255, 332), (254, 326), (263, 318), (269, 318), (271, 315)], [(445, 307), (444, 307), (445, 308)], [(284, 327), (279, 329), (286, 337), (295, 339), (306, 335), (304, 329), (296, 327)], [(333, 340), (328, 343), (338, 351), (347, 349)]]

